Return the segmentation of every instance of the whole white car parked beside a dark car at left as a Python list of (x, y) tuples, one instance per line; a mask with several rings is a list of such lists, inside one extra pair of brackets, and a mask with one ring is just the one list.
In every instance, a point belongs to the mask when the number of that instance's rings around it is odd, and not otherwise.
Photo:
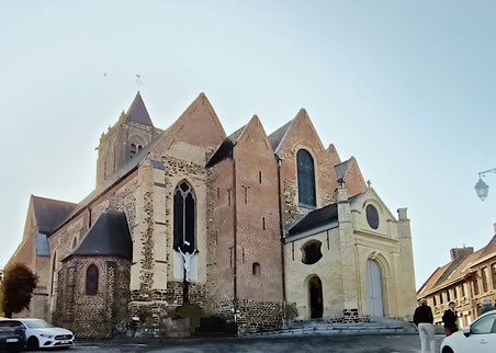
[(42, 319), (15, 319), (26, 329), (26, 348), (64, 348), (74, 344), (74, 333)]

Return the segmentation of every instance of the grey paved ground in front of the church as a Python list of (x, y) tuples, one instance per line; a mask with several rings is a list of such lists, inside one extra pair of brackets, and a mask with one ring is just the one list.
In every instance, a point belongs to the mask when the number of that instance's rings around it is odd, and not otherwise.
[[(437, 335), (441, 343), (443, 335)], [(168, 340), (165, 342), (79, 342), (67, 352), (420, 352), (416, 334), (301, 335)]]

